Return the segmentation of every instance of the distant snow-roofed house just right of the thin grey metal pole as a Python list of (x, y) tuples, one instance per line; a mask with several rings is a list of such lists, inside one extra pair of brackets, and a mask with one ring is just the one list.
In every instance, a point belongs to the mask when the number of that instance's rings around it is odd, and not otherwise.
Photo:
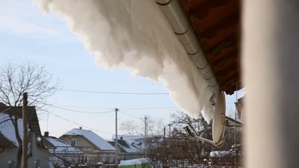
[[(115, 136), (109, 143), (115, 146)], [(142, 151), (144, 136), (118, 136), (118, 152), (120, 160), (138, 159), (144, 156)]]

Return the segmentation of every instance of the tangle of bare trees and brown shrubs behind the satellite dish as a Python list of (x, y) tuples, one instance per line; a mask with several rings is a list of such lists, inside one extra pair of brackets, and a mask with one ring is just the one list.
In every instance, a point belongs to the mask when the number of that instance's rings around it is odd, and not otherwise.
[[(234, 136), (232, 127), (226, 127), (226, 141), (223, 146), (216, 148), (210, 143), (197, 139), (188, 139), (183, 127), (188, 126), (189, 129), (197, 136), (212, 140), (211, 122), (206, 122), (201, 114), (198, 118), (190, 117), (184, 112), (172, 114), (173, 121), (166, 130), (169, 132), (164, 140), (157, 140), (155, 145), (149, 147), (149, 158), (154, 161), (158, 167), (183, 167), (192, 166), (192, 164), (202, 164), (209, 166), (211, 151), (230, 151), (234, 144)], [(236, 142), (241, 141), (241, 132), (237, 130)], [(220, 158), (224, 163), (223, 159)], [(231, 158), (228, 158), (231, 159)], [(216, 159), (214, 159), (216, 160)], [(225, 163), (227, 164), (227, 160)], [(184, 165), (186, 164), (186, 165)]]

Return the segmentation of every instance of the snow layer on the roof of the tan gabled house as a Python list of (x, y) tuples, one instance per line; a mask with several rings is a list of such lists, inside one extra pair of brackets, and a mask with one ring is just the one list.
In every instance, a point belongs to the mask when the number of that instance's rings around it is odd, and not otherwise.
[(97, 134), (95, 134), (94, 132), (92, 132), (90, 130), (74, 128), (63, 135), (83, 136), (87, 140), (89, 140), (91, 143), (93, 143), (96, 147), (98, 147), (100, 150), (115, 150), (115, 147), (113, 147), (110, 143), (108, 143), (102, 137), (98, 136)]

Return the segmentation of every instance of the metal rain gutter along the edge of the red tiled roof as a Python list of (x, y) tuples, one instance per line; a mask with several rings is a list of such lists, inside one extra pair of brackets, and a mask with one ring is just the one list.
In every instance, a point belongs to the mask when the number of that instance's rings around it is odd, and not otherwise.
[(157, 0), (157, 4), (162, 9), (186, 52), (209, 84), (209, 88), (213, 92), (211, 101), (214, 104), (221, 91), (219, 84), (217, 83), (207, 57), (205, 56), (203, 49), (201, 48), (195, 33), (189, 24), (179, 0)]

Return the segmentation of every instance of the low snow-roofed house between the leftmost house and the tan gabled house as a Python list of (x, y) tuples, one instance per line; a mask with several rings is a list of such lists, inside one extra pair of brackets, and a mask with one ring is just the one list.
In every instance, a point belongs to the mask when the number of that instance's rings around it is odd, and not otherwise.
[(49, 136), (49, 132), (45, 132), (43, 141), (49, 149), (49, 168), (65, 168), (85, 163), (84, 153), (81, 150), (56, 137)]

